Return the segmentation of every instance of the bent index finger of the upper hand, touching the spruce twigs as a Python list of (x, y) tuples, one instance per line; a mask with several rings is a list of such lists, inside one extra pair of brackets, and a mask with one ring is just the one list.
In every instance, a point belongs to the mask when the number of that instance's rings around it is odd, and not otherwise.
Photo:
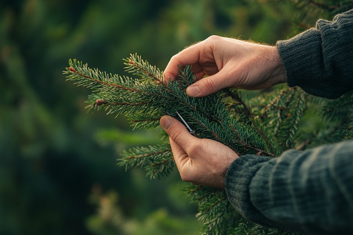
[(183, 68), (184, 66), (186, 66), (186, 64), (195, 64), (196, 62), (198, 62), (199, 57), (200, 43), (192, 45), (191, 47), (188, 47), (180, 51), (178, 54), (172, 56), (166, 69), (163, 72), (164, 79), (168, 80), (168, 78), (170, 78), (171, 81), (174, 81), (179, 74), (179, 69), (177, 65)]

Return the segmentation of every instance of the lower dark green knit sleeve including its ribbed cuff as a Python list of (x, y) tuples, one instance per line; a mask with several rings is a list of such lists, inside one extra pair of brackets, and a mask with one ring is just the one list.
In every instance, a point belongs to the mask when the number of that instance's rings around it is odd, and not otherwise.
[(305, 234), (353, 234), (353, 141), (275, 158), (241, 156), (228, 168), (225, 188), (252, 222)]

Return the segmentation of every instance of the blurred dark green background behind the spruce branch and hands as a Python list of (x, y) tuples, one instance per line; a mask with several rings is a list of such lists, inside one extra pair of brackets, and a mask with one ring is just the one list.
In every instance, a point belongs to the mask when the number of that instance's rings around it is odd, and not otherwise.
[(177, 171), (160, 180), (116, 166), (161, 142), (126, 118), (86, 113), (69, 58), (123, 75), (137, 52), (164, 69), (210, 35), (274, 44), (329, 18), (304, 1), (0, 1), (0, 234), (197, 234)]

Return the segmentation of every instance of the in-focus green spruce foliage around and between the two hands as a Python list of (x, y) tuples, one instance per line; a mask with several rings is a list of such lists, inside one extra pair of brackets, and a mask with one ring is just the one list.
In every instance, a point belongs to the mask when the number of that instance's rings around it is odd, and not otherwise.
[[(257, 154), (276, 157), (281, 151), (307, 145), (351, 138), (353, 93), (337, 100), (312, 97), (298, 87), (263, 93), (247, 103), (237, 89), (227, 88), (202, 98), (190, 98), (185, 89), (195, 79), (191, 67), (180, 69), (176, 81), (166, 82), (162, 72), (140, 56), (125, 61), (126, 71), (140, 76), (133, 79), (90, 69), (87, 64), (70, 60), (64, 74), (78, 86), (92, 89), (88, 108), (104, 109), (115, 116), (125, 114), (135, 128), (153, 128), (163, 115), (178, 111), (201, 138), (219, 141), (238, 155)], [(299, 142), (300, 122), (307, 107), (319, 110), (328, 129), (306, 134)], [(177, 117), (176, 117), (177, 118)], [(272, 131), (274, 130), (274, 131)], [(310, 140), (310, 141), (308, 141)], [(150, 178), (168, 175), (175, 163), (168, 141), (162, 145), (136, 147), (124, 151), (118, 165), (144, 167)], [(198, 202), (203, 221), (202, 234), (291, 234), (264, 228), (242, 218), (219, 188), (191, 185), (186, 195)]]

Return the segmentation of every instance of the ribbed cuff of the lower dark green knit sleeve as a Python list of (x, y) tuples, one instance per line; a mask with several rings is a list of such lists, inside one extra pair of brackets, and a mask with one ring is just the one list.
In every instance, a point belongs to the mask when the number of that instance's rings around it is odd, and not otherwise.
[(225, 179), (226, 193), (229, 202), (245, 218), (252, 222), (271, 226), (271, 222), (259, 212), (251, 203), (249, 186), (253, 176), (262, 163), (269, 161), (270, 157), (258, 155), (243, 155), (233, 161), (228, 168)]

